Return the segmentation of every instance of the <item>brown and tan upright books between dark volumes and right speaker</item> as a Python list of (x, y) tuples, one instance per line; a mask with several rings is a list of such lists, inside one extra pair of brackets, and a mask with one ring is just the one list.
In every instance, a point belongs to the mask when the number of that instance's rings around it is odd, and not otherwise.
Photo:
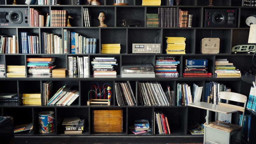
[(193, 15), (189, 15), (188, 11), (179, 9), (179, 27), (192, 27)]

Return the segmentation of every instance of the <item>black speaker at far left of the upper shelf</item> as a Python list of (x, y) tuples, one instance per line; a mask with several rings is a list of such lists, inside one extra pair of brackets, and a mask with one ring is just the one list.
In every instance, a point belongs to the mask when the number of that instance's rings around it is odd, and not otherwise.
[(29, 26), (27, 8), (1, 8), (1, 26)]

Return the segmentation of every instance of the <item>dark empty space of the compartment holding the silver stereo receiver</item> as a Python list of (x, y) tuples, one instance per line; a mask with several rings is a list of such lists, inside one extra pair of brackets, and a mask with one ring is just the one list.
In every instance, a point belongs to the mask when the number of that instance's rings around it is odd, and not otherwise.
[[(161, 29), (128, 29), (128, 54), (131, 54), (132, 44), (161, 44)], [(140, 37), (143, 36), (143, 37)], [(146, 37), (146, 39), (145, 39)], [(162, 45), (161, 45), (162, 47)]]

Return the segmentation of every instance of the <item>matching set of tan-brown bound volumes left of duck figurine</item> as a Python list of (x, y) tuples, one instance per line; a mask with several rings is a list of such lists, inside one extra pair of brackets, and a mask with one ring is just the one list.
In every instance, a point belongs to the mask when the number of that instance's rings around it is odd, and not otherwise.
[(51, 10), (52, 26), (66, 27), (66, 10)]

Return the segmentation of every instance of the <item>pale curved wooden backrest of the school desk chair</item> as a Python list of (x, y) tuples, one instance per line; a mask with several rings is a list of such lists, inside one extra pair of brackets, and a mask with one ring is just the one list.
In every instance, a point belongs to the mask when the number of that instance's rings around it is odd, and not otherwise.
[(242, 121), (243, 121), (244, 111), (245, 111), (246, 101), (247, 101), (247, 97), (245, 95), (242, 95), (240, 93), (233, 93), (233, 92), (219, 92), (219, 97), (218, 98), (219, 99), (224, 99), (224, 100), (231, 100), (231, 101), (244, 103), (244, 107), (241, 107), (241, 106), (237, 106), (237, 105), (218, 102), (218, 105), (222, 105), (222, 106), (225, 106), (225, 107), (231, 107), (231, 108), (237, 109), (238, 111), (243, 112), (243, 115), (242, 115)]

